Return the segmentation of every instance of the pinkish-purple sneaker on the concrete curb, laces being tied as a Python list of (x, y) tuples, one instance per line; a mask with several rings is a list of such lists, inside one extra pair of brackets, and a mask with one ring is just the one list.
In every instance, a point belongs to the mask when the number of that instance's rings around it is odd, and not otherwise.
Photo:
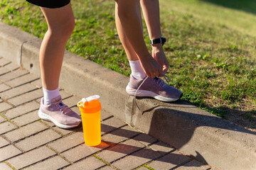
[[(142, 84), (143, 83), (143, 84)], [(137, 89), (139, 90), (137, 91)], [(127, 94), (132, 96), (152, 97), (159, 101), (178, 101), (182, 92), (169, 86), (162, 79), (146, 77), (142, 80), (135, 79), (132, 74), (126, 88)]]

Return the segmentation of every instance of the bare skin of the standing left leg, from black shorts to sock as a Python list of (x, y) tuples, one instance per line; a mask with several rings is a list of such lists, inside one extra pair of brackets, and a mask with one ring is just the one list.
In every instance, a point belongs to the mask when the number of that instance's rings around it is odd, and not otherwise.
[(40, 49), (40, 67), (43, 88), (58, 89), (60, 69), (68, 38), (70, 38), (75, 20), (71, 4), (61, 8), (43, 8), (48, 30)]

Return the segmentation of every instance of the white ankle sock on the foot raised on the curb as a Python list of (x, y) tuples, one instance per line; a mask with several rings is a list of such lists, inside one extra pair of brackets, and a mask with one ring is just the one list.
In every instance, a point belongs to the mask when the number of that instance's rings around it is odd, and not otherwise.
[(136, 61), (130, 61), (129, 60), (129, 65), (132, 69), (132, 76), (135, 79), (144, 79), (146, 77), (146, 74), (144, 70), (142, 69), (142, 65), (140, 64), (139, 60)]

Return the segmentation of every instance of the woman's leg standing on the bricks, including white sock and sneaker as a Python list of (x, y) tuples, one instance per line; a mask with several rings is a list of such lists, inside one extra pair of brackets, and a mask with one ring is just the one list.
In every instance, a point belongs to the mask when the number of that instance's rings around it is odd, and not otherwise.
[(39, 54), (44, 97), (38, 115), (60, 128), (75, 128), (81, 123), (81, 118), (65, 106), (58, 90), (65, 46), (75, 26), (71, 4), (41, 10), (48, 23), (48, 30)]

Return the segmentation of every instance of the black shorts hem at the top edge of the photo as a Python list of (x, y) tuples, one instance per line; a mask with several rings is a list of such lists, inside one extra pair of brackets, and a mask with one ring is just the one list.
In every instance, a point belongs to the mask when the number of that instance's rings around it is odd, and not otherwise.
[(60, 8), (70, 3), (70, 0), (26, 0), (31, 4), (46, 7), (46, 8)]

